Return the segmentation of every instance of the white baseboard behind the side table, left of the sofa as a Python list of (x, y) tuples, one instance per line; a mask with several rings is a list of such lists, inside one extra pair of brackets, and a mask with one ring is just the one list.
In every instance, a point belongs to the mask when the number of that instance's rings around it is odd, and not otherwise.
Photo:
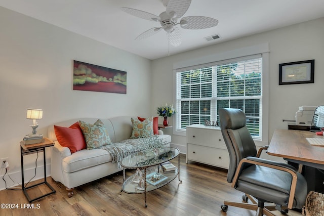
[[(0, 191), (5, 190), (6, 189), (6, 184), (3, 180), (5, 171), (2, 171), (1, 176), (0, 176)], [(12, 180), (14, 180), (15, 182), (13, 183), (13, 181), (9, 178), (9, 176)], [(25, 169), (24, 170), (24, 182), (25, 184), (35, 175), (35, 168), (29, 168), (29, 169)], [(46, 165), (46, 176), (49, 177), (51, 176), (51, 165), (47, 164)], [(7, 172), (7, 174), (5, 175), (4, 179), (7, 182), (7, 187), (11, 188), (11, 187), (21, 187), (21, 171), (15, 171), (15, 172), (10, 172), (10, 170)], [(30, 181), (35, 181), (38, 179), (44, 179), (44, 166), (37, 166), (36, 168), (36, 176)], [(19, 185), (20, 186), (19, 186)], [(29, 185), (30, 186), (30, 185)]]

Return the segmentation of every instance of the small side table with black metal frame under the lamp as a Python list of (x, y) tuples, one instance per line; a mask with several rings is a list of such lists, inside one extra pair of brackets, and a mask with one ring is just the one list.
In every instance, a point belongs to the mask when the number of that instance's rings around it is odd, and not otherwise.
[[(41, 199), (45, 196), (48, 196), (50, 194), (54, 194), (56, 191), (54, 190), (54, 188), (46, 181), (46, 155), (45, 155), (45, 148), (46, 147), (50, 147), (50, 146), (54, 146), (54, 142), (52, 142), (51, 140), (49, 140), (48, 138), (43, 138), (43, 142), (42, 143), (36, 143), (36, 144), (29, 144), (29, 145), (25, 145), (24, 141), (20, 142), (20, 159), (21, 159), (21, 185), (22, 185), (22, 191), (25, 194), (26, 198), (28, 199), (28, 202), (31, 203), (37, 199)], [(40, 152), (43, 151), (44, 153), (44, 181), (35, 185), (31, 185), (28, 187), (25, 187), (25, 182), (24, 182), (24, 155), (26, 154), (32, 154), (35, 152)], [(35, 167), (37, 168), (37, 167)], [(44, 194), (42, 196), (36, 197), (36, 198), (30, 198), (27, 190), (37, 187), (39, 185), (47, 185), (50, 189), (51, 192)]]

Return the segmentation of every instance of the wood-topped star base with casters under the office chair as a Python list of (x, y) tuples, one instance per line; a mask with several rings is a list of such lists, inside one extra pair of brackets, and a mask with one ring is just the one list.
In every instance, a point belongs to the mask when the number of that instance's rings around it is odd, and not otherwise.
[[(252, 203), (224, 201), (224, 205), (254, 210), (254, 211), (256, 211), (256, 216), (262, 216), (263, 214), (267, 215), (267, 216), (275, 216), (275, 214), (270, 212), (270, 211), (276, 210), (275, 204), (264, 205), (263, 203), (259, 203), (257, 199), (255, 199), (253, 196), (251, 196), (249, 194), (246, 194), (244, 196), (247, 196), (251, 200)], [(260, 204), (262, 207), (260, 206)], [(222, 207), (222, 210), (223, 210), (223, 207)], [(227, 208), (226, 208), (226, 210), (227, 210)]]

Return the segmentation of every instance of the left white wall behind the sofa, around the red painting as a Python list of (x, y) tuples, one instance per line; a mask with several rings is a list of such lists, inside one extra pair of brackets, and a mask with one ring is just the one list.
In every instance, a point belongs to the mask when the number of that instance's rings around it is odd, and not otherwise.
[[(150, 60), (2, 7), (0, 29), (0, 158), (9, 157), (15, 182), (21, 183), (19, 142), (31, 133), (27, 108), (44, 109), (37, 120), (44, 136), (48, 125), (70, 118), (150, 113)], [(73, 91), (73, 60), (127, 71), (127, 94)], [(27, 181), (35, 158), (25, 157)], [(38, 166), (42, 158), (43, 153)], [(47, 158), (49, 164), (50, 151)], [(42, 175), (40, 169), (37, 177)], [(4, 187), (1, 180), (0, 190)]]

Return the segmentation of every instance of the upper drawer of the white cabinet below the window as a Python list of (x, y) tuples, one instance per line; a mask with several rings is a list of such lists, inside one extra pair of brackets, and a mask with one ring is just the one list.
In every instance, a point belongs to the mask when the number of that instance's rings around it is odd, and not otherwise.
[(227, 150), (221, 131), (187, 127), (187, 143)]

